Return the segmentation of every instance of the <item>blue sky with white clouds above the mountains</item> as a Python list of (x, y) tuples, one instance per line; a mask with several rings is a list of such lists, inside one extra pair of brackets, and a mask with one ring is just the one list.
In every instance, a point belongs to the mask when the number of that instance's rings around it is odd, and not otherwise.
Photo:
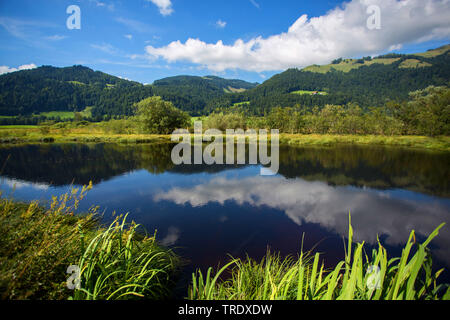
[(0, 0), (0, 74), (81, 64), (141, 83), (261, 83), (288, 68), (449, 40), (450, 0)]

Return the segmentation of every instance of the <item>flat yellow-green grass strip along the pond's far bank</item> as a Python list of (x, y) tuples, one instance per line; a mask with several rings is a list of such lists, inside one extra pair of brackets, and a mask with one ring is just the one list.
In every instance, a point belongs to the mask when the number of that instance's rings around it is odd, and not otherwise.
[[(194, 117), (192, 121), (203, 120)], [(0, 126), (0, 142), (106, 142), (106, 143), (170, 143), (170, 135), (115, 133), (107, 123), (70, 124), (53, 126)], [(43, 130), (46, 129), (46, 130)], [(126, 131), (126, 130), (125, 130)], [(381, 136), (381, 135), (329, 135), (280, 134), (280, 144), (294, 146), (332, 146), (336, 144), (385, 145), (428, 150), (450, 151), (450, 137)]]

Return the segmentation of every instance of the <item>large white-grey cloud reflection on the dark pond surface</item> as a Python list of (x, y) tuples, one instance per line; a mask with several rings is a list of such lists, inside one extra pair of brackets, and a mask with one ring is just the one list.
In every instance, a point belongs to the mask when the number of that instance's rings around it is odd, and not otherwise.
[[(386, 243), (400, 245), (412, 229), (425, 236), (448, 220), (448, 207), (432, 199), (391, 198), (371, 189), (332, 187), (324, 182), (283, 177), (217, 177), (193, 187), (158, 193), (154, 200), (193, 207), (234, 201), (238, 205), (275, 208), (284, 211), (296, 224), (317, 223), (342, 236), (347, 235), (347, 216), (351, 212), (355, 239), (372, 244), (376, 243), (377, 235), (385, 235)], [(449, 230), (442, 230), (435, 241), (439, 247), (437, 254), (450, 264)]]

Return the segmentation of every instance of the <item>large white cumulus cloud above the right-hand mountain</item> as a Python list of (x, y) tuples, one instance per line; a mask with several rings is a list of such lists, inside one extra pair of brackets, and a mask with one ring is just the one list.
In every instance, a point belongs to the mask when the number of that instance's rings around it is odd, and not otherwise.
[[(381, 29), (368, 28), (369, 5), (381, 10)], [(449, 0), (352, 0), (323, 16), (302, 15), (287, 32), (233, 44), (189, 38), (147, 46), (149, 58), (227, 69), (276, 71), (329, 63), (338, 57), (376, 54), (403, 44), (450, 37)]]

